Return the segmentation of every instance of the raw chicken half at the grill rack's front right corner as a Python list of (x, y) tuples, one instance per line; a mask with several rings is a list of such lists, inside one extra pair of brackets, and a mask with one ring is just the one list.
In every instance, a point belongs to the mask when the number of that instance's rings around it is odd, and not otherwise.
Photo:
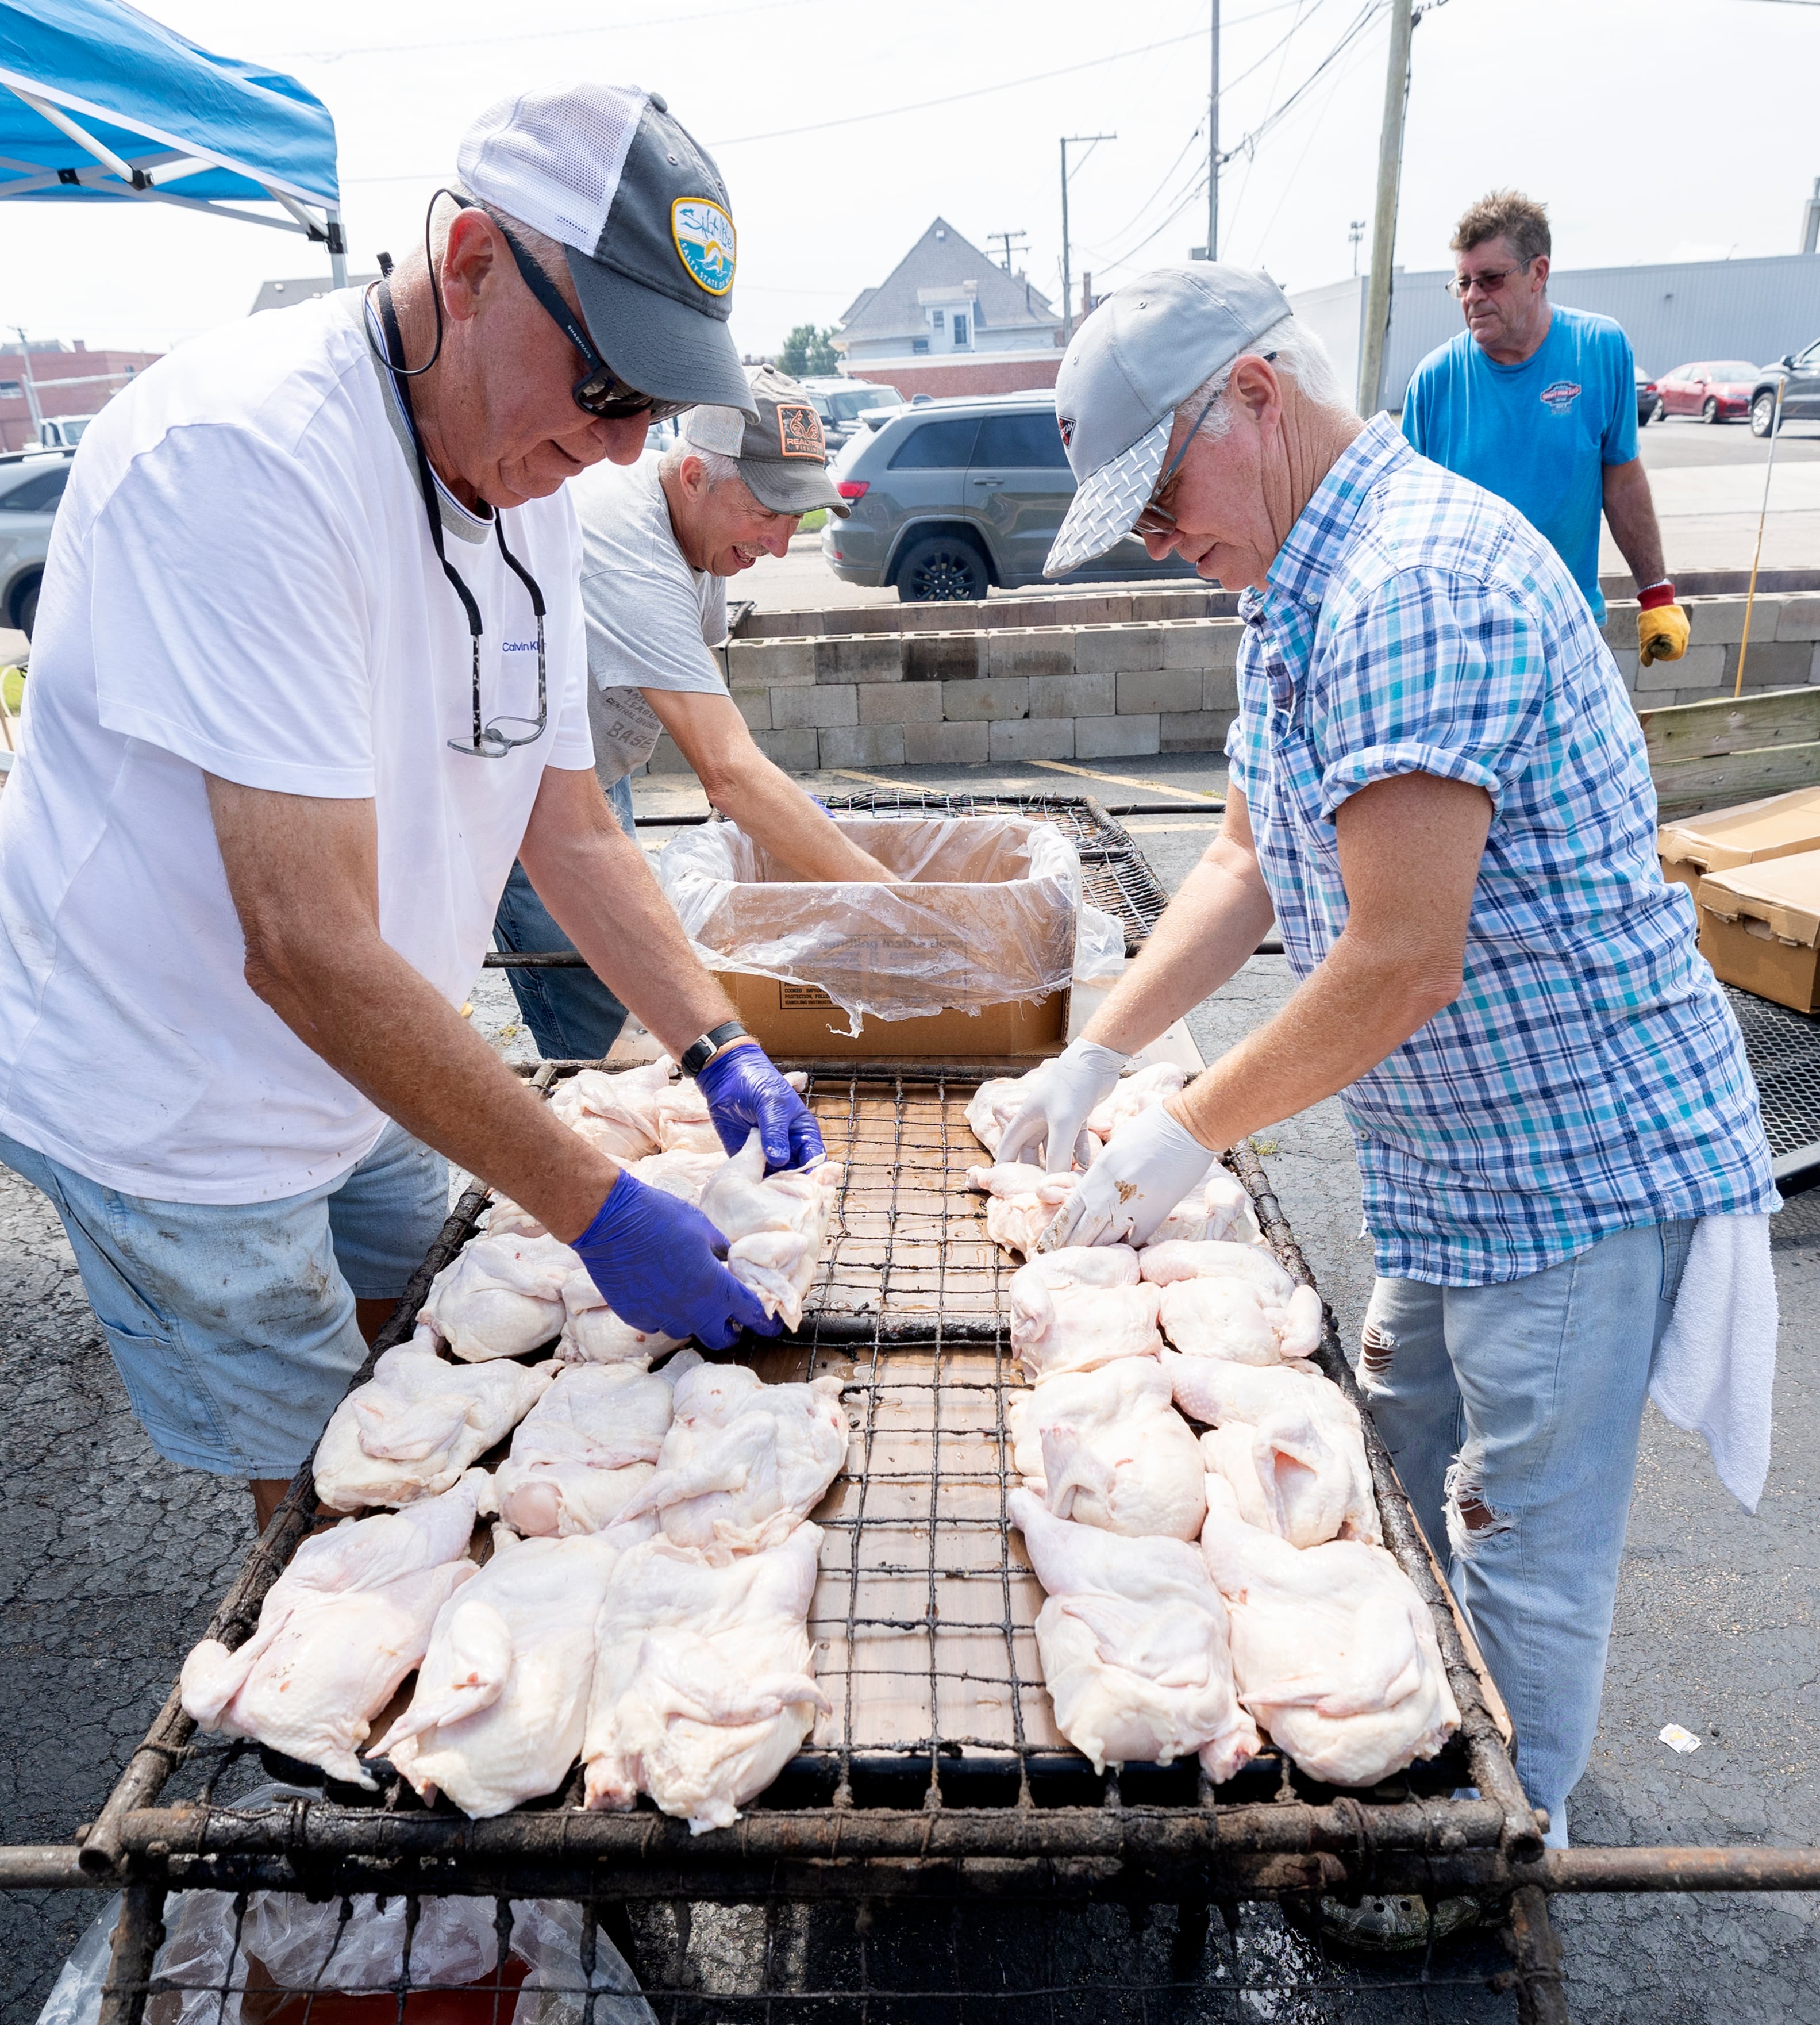
[(1207, 1567), (1233, 1624), (1239, 1699), (1312, 1778), (1375, 1786), (1460, 1727), (1433, 1620), (1383, 1547), (1292, 1547), (1207, 1482)]

